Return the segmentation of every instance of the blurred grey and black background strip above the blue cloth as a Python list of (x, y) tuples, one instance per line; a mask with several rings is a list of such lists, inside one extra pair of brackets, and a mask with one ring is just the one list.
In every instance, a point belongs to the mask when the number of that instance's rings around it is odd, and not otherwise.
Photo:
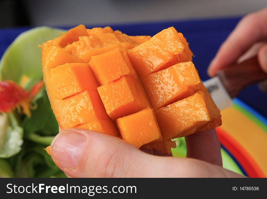
[(106, 25), (243, 16), (266, 0), (1, 0), (0, 27)]

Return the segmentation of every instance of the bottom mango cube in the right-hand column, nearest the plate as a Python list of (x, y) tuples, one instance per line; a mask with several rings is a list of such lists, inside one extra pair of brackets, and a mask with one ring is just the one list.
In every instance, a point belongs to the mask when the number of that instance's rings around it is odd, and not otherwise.
[[(202, 91), (155, 111), (163, 140), (181, 137), (183, 131), (210, 121)], [(191, 134), (188, 133), (188, 134)], [(187, 134), (187, 135), (188, 135)]]

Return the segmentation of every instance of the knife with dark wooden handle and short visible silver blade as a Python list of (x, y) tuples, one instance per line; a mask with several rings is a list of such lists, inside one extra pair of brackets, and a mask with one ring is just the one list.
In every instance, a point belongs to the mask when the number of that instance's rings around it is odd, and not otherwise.
[(212, 99), (220, 110), (232, 106), (232, 99), (247, 86), (267, 80), (257, 56), (217, 71), (214, 78), (204, 81)]

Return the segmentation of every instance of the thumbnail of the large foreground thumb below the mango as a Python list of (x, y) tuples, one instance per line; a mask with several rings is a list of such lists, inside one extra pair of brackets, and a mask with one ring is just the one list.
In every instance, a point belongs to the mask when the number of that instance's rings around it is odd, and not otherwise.
[(86, 137), (75, 131), (63, 131), (51, 143), (52, 158), (60, 167), (75, 168), (86, 144)]

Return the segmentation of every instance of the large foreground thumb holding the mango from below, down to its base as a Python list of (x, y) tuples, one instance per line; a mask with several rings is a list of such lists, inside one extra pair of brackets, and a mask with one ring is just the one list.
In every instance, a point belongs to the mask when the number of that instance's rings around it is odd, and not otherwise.
[(61, 131), (50, 154), (68, 177), (241, 177), (196, 159), (146, 154), (119, 138), (79, 128)]

